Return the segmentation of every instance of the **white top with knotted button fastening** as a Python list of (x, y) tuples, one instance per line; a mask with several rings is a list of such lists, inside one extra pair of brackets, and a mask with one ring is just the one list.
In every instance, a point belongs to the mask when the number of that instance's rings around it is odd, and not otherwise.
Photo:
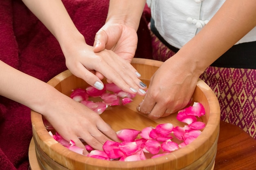
[[(225, 0), (147, 0), (159, 34), (181, 48), (220, 9)], [(221, 26), (221, 25), (220, 25)], [(256, 27), (236, 44), (256, 41)]]

